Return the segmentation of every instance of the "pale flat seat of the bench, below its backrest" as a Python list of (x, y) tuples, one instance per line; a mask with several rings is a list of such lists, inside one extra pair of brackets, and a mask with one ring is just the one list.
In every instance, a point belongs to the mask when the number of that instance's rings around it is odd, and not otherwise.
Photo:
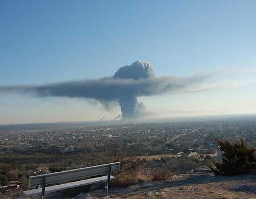
[[(110, 180), (114, 180), (114, 179), (115, 179), (114, 176), (110, 176)], [(47, 186), (46, 192), (54, 192), (56, 190), (69, 189), (69, 188), (73, 188), (73, 187), (77, 187), (77, 186), (100, 183), (100, 182), (107, 181), (107, 180), (108, 180), (108, 176), (101, 176), (101, 177), (94, 177), (92, 179), (87, 179), (87, 180), (75, 181), (72, 183)], [(39, 188), (39, 189), (26, 190), (26, 191), (24, 191), (24, 194), (29, 196), (29, 195), (33, 195), (33, 194), (40, 194), (41, 192), (42, 192), (42, 188)]]

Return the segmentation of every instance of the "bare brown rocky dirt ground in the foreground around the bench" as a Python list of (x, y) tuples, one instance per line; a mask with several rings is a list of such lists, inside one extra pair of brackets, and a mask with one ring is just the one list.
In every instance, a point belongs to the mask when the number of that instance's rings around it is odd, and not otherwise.
[(80, 193), (76, 197), (64, 197), (61, 192), (51, 193), (46, 199), (256, 199), (255, 175), (220, 177), (211, 174), (184, 174), (175, 177), (169, 181), (148, 181), (126, 188), (110, 188), (109, 197), (106, 197), (105, 189), (99, 189)]

